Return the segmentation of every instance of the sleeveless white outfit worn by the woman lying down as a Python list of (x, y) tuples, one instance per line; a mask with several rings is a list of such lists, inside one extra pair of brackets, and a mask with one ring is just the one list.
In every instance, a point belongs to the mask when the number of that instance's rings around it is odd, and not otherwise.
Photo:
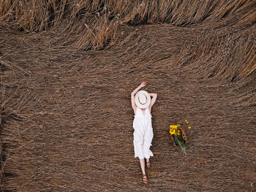
[(135, 129), (133, 133), (135, 158), (149, 158), (153, 156), (153, 153), (149, 149), (153, 139), (152, 116), (148, 107), (145, 110), (145, 115), (139, 107), (136, 108), (136, 115), (133, 120), (133, 128)]

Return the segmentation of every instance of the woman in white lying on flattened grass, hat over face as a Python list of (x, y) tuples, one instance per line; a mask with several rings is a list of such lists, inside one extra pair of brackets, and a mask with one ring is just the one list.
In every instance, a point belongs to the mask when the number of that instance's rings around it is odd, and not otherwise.
[[(143, 183), (148, 184), (148, 179), (145, 172), (146, 166), (150, 168), (150, 156), (153, 153), (149, 149), (153, 139), (153, 129), (151, 123), (151, 109), (154, 102), (157, 100), (157, 93), (147, 93), (146, 91), (139, 91), (140, 88), (146, 86), (146, 82), (141, 82), (138, 88), (135, 88), (131, 93), (132, 109), (135, 113), (133, 120), (133, 144), (135, 148), (135, 158), (140, 159), (140, 166), (143, 174)], [(135, 95), (136, 93), (136, 95)], [(152, 97), (152, 99), (151, 99)]]

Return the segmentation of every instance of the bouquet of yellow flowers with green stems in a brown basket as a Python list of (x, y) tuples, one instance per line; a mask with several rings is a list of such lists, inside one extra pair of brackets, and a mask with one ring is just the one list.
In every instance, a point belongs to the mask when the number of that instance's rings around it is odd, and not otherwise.
[[(187, 121), (186, 121), (187, 123)], [(190, 128), (190, 127), (189, 127)], [(184, 128), (181, 127), (180, 124), (177, 125), (170, 125), (170, 139), (173, 141), (173, 145), (180, 146), (181, 150), (186, 153), (187, 146), (187, 136), (184, 131)]]

